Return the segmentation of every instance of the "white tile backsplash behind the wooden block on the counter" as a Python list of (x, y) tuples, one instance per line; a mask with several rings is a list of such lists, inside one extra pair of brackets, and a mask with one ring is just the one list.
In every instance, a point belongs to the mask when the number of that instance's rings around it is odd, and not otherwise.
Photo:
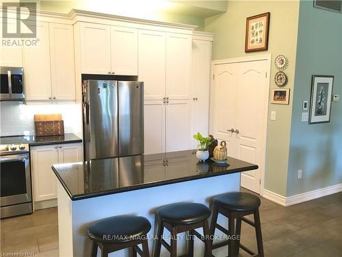
[(75, 103), (0, 101), (0, 136), (34, 135), (34, 114), (60, 113), (64, 132), (81, 134), (81, 107)]

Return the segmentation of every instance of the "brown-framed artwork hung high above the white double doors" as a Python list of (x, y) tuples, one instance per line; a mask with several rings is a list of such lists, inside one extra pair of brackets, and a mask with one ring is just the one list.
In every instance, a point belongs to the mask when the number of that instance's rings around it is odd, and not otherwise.
[(245, 52), (268, 49), (269, 12), (247, 18)]

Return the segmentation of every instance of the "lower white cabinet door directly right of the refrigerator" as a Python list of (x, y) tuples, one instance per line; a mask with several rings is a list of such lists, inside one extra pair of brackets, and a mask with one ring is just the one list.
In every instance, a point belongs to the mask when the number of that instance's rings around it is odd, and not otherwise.
[(163, 101), (144, 102), (144, 154), (165, 151), (165, 104)]

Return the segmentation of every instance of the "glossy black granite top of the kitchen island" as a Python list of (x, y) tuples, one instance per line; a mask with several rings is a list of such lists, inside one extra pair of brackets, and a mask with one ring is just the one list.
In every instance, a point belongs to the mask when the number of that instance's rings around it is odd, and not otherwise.
[(79, 200), (153, 186), (258, 169), (228, 157), (228, 164), (198, 162), (196, 151), (175, 151), (55, 164), (52, 169), (70, 199)]

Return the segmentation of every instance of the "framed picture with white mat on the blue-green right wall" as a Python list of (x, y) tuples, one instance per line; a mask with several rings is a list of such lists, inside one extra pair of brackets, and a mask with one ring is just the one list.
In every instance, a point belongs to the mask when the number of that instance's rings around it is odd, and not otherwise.
[(313, 75), (309, 124), (330, 122), (334, 76)]

